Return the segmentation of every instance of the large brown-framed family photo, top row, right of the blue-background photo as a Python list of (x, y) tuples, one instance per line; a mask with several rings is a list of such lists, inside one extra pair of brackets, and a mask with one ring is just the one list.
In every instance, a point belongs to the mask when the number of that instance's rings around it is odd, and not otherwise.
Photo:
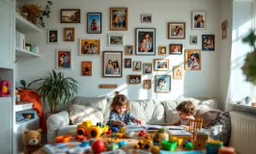
[(110, 8), (110, 31), (128, 31), (128, 8)]

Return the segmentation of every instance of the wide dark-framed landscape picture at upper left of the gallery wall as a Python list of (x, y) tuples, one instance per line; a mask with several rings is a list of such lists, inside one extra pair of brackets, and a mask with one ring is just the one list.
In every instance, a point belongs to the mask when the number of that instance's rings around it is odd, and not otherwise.
[(80, 9), (62, 9), (61, 23), (80, 23)]

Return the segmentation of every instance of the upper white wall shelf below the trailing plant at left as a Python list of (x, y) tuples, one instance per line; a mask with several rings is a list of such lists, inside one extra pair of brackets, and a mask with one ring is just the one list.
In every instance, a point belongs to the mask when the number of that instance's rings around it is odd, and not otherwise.
[(42, 30), (25, 19), (24, 17), (20, 16), (18, 13), (15, 14), (16, 19), (16, 30), (20, 32), (27, 32), (27, 33), (42, 33)]

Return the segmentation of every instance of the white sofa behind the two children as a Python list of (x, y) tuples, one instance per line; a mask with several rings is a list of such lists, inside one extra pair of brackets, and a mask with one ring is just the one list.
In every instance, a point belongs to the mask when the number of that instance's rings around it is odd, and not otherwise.
[[(196, 109), (212, 110), (216, 108), (215, 98), (182, 98), (166, 101), (158, 101), (154, 99), (130, 100), (129, 104), (132, 115), (141, 119), (143, 123), (162, 125), (165, 122), (172, 122), (179, 118), (176, 112), (176, 107), (184, 100), (192, 101), (196, 105)], [(103, 115), (103, 121), (100, 122), (106, 122), (109, 118), (111, 101), (112, 98), (107, 96), (77, 96), (73, 99), (72, 103), (97, 108)], [(46, 124), (48, 142), (54, 142), (56, 136), (67, 134), (71, 129), (76, 128), (76, 125), (71, 125), (69, 109), (53, 116), (49, 116)]]

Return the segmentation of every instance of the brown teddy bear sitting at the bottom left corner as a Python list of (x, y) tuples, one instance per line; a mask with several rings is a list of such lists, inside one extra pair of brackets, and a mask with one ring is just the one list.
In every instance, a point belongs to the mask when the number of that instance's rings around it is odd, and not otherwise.
[(24, 154), (32, 154), (42, 147), (42, 129), (37, 131), (26, 129), (23, 132)]

